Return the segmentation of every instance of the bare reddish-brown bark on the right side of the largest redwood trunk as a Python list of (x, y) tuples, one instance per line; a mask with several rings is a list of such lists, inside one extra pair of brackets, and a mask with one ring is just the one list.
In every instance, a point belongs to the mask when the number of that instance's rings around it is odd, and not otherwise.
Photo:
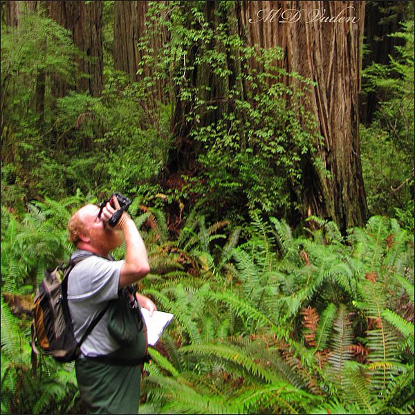
[[(274, 18), (260, 10), (274, 10)], [(365, 1), (243, 1), (239, 21), (248, 29), (249, 44), (281, 46), (286, 52), (282, 64), (286, 71), (316, 82), (302, 104), (317, 120), (324, 139), (319, 157), (330, 176), (304, 158), (304, 191), (297, 194), (306, 207), (304, 214), (333, 219), (342, 230), (362, 225), (367, 204), (360, 164), (358, 94)]]

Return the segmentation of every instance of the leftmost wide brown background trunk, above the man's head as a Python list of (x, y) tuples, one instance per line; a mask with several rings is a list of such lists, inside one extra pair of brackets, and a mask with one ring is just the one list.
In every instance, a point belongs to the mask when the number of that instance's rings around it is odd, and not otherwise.
[[(102, 57), (102, 1), (51, 1), (50, 17), (72, 33), (75, 46), (85, 54), (79, 59), (80, 72), (77, 91), (89, 91), (92, 96), (100, 96), (104, 87)], [(69, 89), (66, 82), (55, 80), (54, 95), (62, 97)]]

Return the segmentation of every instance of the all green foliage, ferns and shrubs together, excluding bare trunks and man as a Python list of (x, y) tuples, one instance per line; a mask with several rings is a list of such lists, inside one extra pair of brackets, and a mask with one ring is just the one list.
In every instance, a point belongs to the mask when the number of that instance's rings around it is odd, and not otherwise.
[[(132, 82), (109, 67), (113, 2), (104, 2), (100, 98), (53, 95), (56, 80), (72, 86), (84, 75), (61, 26), (38, 15), (2, 25), (1, 413), (82, 413), (73, 365), (42, 356), (33, 378), (30, 319), (13, 315), (8, 295), (33, 296), (44, 270), (73, 250), (73, 208), (114, 190), (133, 199), (147, 246), (151, 273), (139, 288), (175, 315), (149, 348), (141, 413), (414, 412), (413, 22), (397, 34), (406, 43), (396, 59), (365, 71), (382, 95), (361, 130), (369, 207), (396, 219), (373, 216), (342, 234), (311, 216), (294, 231), (286, 190), (299, 190), (319, 140), (297, 105), (312, 85), (277, 69), (279, 48), (243, 47), (234, 7), (219, 2), (208, 19), (205, 2), (151, 3), (140, 48), (163, 28), (169, 44), (158, 56), (147, 49), (140, 72), (152, 75)], [(150, 108), (158, 83), (169, 104)], [(181, 106), (183, 141), (172, 145)], [(198, 174), (165, 191), (156, 179), (179, 145), (192, 147)], [(181, 229), (163, 210), (171, 202), (181, 203)]]

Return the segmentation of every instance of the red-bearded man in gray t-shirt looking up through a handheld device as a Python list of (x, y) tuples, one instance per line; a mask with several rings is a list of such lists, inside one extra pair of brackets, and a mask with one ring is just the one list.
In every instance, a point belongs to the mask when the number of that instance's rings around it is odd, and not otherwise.
[[(137, 282), (149, 273), (147, 250), (135, 223), (123, 212), (115, 227), (108, 221), (120, 209), (113, 197), (101, 214), (96, 205), (85, 205), (68, 222), (69, 240), (75, 244), (72, 255), (77, 262), (68, 278), (68, 304), (76, 340), (79, 341), (91, 322), (118, 298), (120, 288)], [(109, 253), (126, 243), (122, 261), (113, 261)], [(90, 256), (85, 257), (89, 254)], [(93, 255), (92, 255), (93, 254)], [(156, 310), (151, 299), (137, 294), (140, 306), (150, 315)], [(102, 361), (100, 357), (121, 351), (120, 344), (107, 328), (107, 312), (81, 346), (75, 362), (80, 396), (92, 414), (137, 414), (140, 400), (140, 365), (121, 365)], [(147, 339), (142, 341), (147, 351)]]

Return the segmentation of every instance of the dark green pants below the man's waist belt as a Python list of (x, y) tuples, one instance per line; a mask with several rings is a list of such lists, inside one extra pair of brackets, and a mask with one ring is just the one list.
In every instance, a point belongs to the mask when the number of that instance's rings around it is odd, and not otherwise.
[(89, 414), (138, 414), (141, 366), (120, 366), (80, 358), (77, 385)]

